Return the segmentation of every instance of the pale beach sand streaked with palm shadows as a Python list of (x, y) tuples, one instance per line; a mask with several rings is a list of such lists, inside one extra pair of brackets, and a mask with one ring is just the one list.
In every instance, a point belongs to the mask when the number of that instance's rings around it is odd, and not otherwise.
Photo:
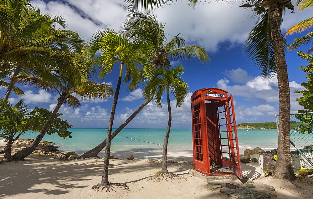
[[(0, 143), (2, 148), (3, 143)], [(0, 198), (225, 198), (219, 191), (207, 191), (205, 181), (189, 175), (193, 166), (187, 163), (192, 160), (191, 157), (172, 155), (169, 160), (185, 162), (167, 164), (168, 170), (180, 177), (159, 182), (149, 179), (162, 168), (161, 163), (139, 160), (135, 154), (134, 161), (110, 161), (109, 181), (126, 183), (130, 190), (116, 188), (105, 192), (91, 190), (101, 181), (101, 159), (64, 162), (55, 159), (55, 156), (31, 154), (26, 161), (0, 164)], [(150, 159), (161, 160), (157, 155)], [(274, 186), (277, 198), (313, 198), (313, 187), (304, 182), (260, 178), (259, 163), (243, 164), (242, 170), (249, 179)]]

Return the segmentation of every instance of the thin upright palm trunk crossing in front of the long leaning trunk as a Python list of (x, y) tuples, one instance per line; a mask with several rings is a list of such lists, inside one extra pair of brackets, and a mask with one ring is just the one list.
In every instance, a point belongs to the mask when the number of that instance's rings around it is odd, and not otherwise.
[(109, 126), (108, 126), (108, 132), (106, 134), (106, 144), (105, 144), (105, 155), (104, 155), (104, 161), (103, 161), (103, 172), (102, 172), (102, 180), (100, 182), (100, 185), (107, 186), (109, 185), (109, 159), (110, 159), (110, 149), (111, 149), (111, 133), (112, 133), (112, 126), (113, 126), (113, 120), (115, 115), (115, 108), (117, 105), (117, 99), (120, 92), (121, 87), (121, 81), (122, 77), (118, 78), (115, 95), (113, 99), (112, 104), (112, 110), (109, 120)]

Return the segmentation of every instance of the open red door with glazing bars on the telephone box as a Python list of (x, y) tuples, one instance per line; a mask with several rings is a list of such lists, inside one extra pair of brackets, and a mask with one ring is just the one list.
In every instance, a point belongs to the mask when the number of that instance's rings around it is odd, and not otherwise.
[(241, 173), (241, 162), (238, 148), (238, 139), (237, 139), (237, 129), (236, 129), (236, 120), (235, 120), (235, 111), (233, 107), (233, 95), (230, 95), (226, 103), (227, 114), (228, 114), (228, 135), (229, 135), (229, 144), (230, 144), (230, 154), (231, 160), (233, 162), (233, 172), (234, 174), (242, 179)]

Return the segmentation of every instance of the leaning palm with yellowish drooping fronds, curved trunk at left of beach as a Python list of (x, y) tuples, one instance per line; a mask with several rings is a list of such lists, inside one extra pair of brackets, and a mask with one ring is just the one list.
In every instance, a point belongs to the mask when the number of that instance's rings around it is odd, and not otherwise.
[(15, 153), (11, 160), (23, 160), (35, 150), (48, 131), (61, 105), (65, 104), (69, 107), (79, 107), (80, 99), (105, 99), (113, 95), (114, 90), (109, 84), (98, 84), (90, 80), (90, 72), (92, 69), (92, 65), (90, 63), (85, 62), (83, 57), (80, 57), (80, 59), (78, 58), (77, 62), (80, 62), (80, 68), (77, 68), (75, 64), (64, 64), (63, 67), (55, 67), (51, 72), (46, 71), (45, 73), (41, 73), (38, 77), (13, 77), (14, 80), (22, 84), (34, 86), (36, 89), (44, 89), (52, 94), (56, 93), (59, 95), (59, 98), (57, 99), (58, 103), (50, 115), (46, 125), (40, 131), (33, 143)]

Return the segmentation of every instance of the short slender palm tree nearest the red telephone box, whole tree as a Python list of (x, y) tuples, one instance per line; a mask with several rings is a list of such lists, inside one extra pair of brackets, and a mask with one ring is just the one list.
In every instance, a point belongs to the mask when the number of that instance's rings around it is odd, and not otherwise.
[[(157, 68), (150, 82), (146, 84), (143, 89), (143, 95), (146, 99), (154, 98), (155, 104), (161, 107), (161, 98), (164, 93), (167, 93), (167, 109), (168, 109), (168, 124), (167, 130), (164, 138), (163, 144), (163, 154), (162, 154), (162, 174), (169, 174), (167, 171), (167, 143), (171, 130), (172, 123), (172, 111), (170, 102), (170, 92), (172, 93), (174, 99), (176, 100), (176, 107), (182, 106), (184, 99), (188, 94), (188, 86), (185, 81), (183, 81), (180, 76), (184, 72), (184, 67), (177, 65), (173, 68), (164, 69)], [(159, 176), (161, 177), (161, 176)]]

